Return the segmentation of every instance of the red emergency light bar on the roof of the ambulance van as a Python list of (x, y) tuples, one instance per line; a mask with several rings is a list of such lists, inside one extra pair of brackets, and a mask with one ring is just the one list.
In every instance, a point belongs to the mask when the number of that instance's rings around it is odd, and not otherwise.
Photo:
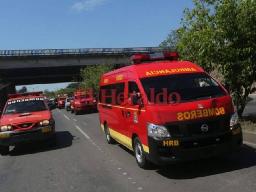
[(132, 55), (131, 61), (132, 63), (141, 63), (148, 61), (161, 61), (161, 60), (170, 60), (175, 61), (178, 60), (179, 53), (171, 52), (171, 53), (153, 53), (153, 54), (145, 54), (145, 55)]

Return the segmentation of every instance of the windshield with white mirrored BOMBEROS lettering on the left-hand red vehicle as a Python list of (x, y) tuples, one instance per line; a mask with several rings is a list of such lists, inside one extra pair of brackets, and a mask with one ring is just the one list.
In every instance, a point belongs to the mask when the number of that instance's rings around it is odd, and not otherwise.
[(13, 114), (13, 113), (28, 113), (28, 112), (44, 111), (44, 110), (47, 110), (47, 107), (44, 101), (42, 100), (34, 100), (34, 101), (14, 100), (12, 102), (7, 102), (4, 115)]

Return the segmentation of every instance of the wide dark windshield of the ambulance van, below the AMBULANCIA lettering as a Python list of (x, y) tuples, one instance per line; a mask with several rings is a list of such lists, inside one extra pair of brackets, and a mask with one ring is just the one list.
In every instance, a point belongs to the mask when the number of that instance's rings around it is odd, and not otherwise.
[[(167, 98), (169, 94), (176, 92), (181, 96), (181, 102), (204, 100), (226, 95), (226, 92), (218, 83), (206, 73), (163, 75), (146, 77), (140, 80), (150, 102), (156, 102), (157, 94), (163, 93), (164, 88), (167, 89)], [(152, 90), (154, 90), (154, 96), (151, 97)], [(163, 102), (163, 95), (159, 97), (159, 101)], [(173, 95), (172, 101), (176, 101), (175, 95)]]

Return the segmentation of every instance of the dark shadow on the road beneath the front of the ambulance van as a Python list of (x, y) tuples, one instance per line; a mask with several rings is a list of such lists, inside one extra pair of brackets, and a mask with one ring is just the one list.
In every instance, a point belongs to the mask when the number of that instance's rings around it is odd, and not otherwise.
[(169, 179), (193, 179), (240, 170), (255, 165), (256, 149), (244, 145), (241, 150), (235, 153), (170, 166), (154, 165), (152, 169)]

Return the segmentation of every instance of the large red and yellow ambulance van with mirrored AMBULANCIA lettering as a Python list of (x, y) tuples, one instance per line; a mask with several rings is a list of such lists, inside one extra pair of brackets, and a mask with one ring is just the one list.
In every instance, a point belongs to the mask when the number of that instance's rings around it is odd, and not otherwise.
[(133, 150), (141, 168), (242, 147), (228, 91), (197, 65), (175, 61), (178, 57), (176, 52), (134, 55), (135, 65), (101, 77), (101, 129), (108, 143), (116, 140)]

